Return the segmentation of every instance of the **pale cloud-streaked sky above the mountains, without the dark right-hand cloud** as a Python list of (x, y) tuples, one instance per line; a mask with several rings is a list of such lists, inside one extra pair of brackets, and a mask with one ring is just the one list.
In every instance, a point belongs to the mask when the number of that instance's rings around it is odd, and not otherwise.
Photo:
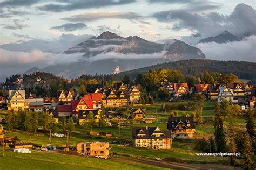
[(217, 12), (226, 16), (241, 2), (255, 9), (255, 1), (249, 0), (0, 0), (0, 44), (52, 40), (62, 34), (97, 36), (103, 31), (124, 37), (137, 35), (152, 41), (179, 39), (204, 31), (184, 24), (188, 20), (181, 10), (191, 15)]

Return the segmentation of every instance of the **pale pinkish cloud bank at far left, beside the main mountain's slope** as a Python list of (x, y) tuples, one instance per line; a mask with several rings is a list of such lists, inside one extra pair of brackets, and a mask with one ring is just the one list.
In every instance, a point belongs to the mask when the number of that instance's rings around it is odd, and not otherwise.
[[(39, 50), (31, 52), (6, 51), (0, 48), (0, 82), (14, 74), (22, 74), (32, 67), (43, 68), (49, 65), (70, 64), (83, 60), (83, 54), (53, 54)], [(10, 69), (11, 68), (11, 69)]]

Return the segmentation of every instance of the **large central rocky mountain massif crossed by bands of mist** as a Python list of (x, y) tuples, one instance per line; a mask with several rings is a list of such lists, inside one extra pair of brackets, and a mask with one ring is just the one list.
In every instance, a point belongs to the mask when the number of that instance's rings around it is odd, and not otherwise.
[[(109, 31), (81, 42), (62, 54), (78, 54), (82, 59), (79, 62), (50, 65), (40, 70), (72, 78), (81, 74), (113, 74), (117, 70), (123, 72), (169, 61), (205, 59), (205, 54), (199, 48), (180, 40), (160, 44), (138, 36), (120, 37)], [(34, 70), (38, 71), (38, 68), (32, 68), (26, 73)]]

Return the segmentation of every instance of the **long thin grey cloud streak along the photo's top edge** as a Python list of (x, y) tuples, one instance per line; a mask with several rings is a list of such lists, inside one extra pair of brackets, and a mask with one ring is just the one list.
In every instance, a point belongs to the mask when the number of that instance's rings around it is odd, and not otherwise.
[(136, 2), (135, 0), (76, 0), (76, 1), (62, 1), (66, 4), (46, 4), (39, 6), (39, 10), (62, 12), (71, 11), (77, 9), (90, 9), (90, 8), (102, 8), (104, 6), (123, 5)]

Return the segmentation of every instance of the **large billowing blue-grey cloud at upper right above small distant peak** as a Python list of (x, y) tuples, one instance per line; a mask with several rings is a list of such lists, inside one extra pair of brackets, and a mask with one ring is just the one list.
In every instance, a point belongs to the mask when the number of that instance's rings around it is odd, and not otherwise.
[(195, 33), (200, 33), (201, 37), (205, 38), (215, 36), (224, 30), (240, 37), (245, 34), (256, 34), (255, 16), (256, 11), (252, 6), (238, 4), (230, 15), (221, 15), (217, 12), (199, 15), (186, 11), (172, 11), (168, 18), (177, 21), (172, 30), (189, 29)]

